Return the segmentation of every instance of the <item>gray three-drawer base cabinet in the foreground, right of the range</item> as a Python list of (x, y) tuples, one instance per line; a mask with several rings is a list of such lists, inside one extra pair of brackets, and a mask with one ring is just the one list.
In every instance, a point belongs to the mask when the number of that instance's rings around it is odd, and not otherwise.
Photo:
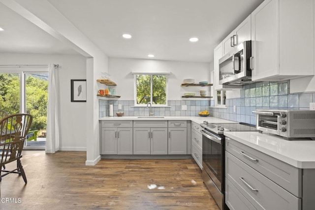
[[(302, 209), (301, 169), (228, 137), (225, 149), (225, 203), (230, 209)], [(289, 191), (288, 183), (297, 189)]]

